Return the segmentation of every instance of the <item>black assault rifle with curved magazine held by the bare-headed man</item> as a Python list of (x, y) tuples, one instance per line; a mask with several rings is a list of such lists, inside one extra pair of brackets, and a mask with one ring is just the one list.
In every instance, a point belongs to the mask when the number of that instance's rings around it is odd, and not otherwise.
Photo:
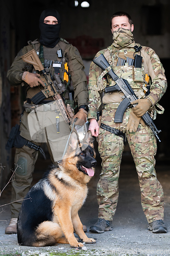
[[(137, 100), (138, 97), (135, 95), (135, 92), (131, 88), (129, 82), (126, 79), (119, 78), (112, 70), (112, 68), (109, 65), (109, 62), (105, 58), (103, 54), (101, 54), (99, 57), (96, 57), (93, 59), (93, 62), (98, 65), (102, 70), (108, 69), (108, 74), (111, 76), (111, 78), (116, 82), (114, 86), (106, 87), (105, 93), (114, 92), (114, 91), (122, 91), (124, 93), (124, 99), (122, 102), (120, 102), (116, 113), (114, 122), (115, 123), (121, 123), (123, 121), (123, 115), (125, 110), (128, 108), (128, 106), (131, 105), (131, 102), (134, 100)], [(135, 106), (136, 104), (133, 104), (131, 106)], [(161, 130), (158, 130), (155, 126), (153, 119), (151, 118), (148, 111), (141, 117), (145, 124), (149, 125), (152, 132), (154, 133), (157, 140), (160, 142), (160, 138), (158, 136), (158, 133), (161, 132)]]

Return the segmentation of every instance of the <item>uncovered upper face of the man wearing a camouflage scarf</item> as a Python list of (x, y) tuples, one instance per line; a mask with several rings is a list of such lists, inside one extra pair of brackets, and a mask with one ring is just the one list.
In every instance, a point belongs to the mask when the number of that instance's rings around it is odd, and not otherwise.
[(130, 25), (129, 19), (127, 16), (118, 16), (118, 17), (112, 18), (112, 28), (111, 28), (112, 34), (113, 34), (113, 31), (116, 31), (119, 28), (129, 29), (132, 32), (134, 29), (134, 26), (133, 24), (132, 26)]

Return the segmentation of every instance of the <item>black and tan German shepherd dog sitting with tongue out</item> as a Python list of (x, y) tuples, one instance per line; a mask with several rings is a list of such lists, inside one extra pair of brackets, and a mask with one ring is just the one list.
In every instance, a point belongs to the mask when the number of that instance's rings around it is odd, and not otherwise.
[(19, 245), (52, 246), (57, 243), (82, 248), (82, 242), (95, 243), (83, 231), (78, 210), (87, 197), (87, 183), (96, 165), (93, 138), (88, 131), (80, 143), (72, 132), (67, 152), (58, 167), (45, 173), (22, 202), (17, 222)]

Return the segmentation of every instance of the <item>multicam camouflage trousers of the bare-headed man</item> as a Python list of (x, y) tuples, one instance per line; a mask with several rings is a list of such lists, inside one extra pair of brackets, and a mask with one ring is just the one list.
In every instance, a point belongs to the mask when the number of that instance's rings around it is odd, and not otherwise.
[[(149, 126), (139, 124), (126, 137), (135, 162), (141, 191), (141, 205), (149, 223), (163, 219), (163, 189), (155, 172), (156, 139)], [(124, 151), (123, 138), (100, 128), (99, 153), (102, 172), (97, 187), (99, 218), (112, 220), (118, 201), (118, 178)]]

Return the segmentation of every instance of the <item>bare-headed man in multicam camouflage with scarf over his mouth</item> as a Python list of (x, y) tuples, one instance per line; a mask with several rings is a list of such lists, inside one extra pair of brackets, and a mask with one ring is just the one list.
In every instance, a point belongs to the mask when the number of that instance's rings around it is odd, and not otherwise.
[[(104, 54), (113, 71), (118, 77), (128, 80), (139, 98), (133, 102), (133, 104), (138, 103), (134, 108), (126, 109), (122, 123), (114, 123), (114, 115), (124, 94), (122, 92), (107, 93), (101, 100), (105, 87), (114, 86), (115, 82), (106, 74), (107, 72), (103, 72), (93, 62), (90, 66), (89, 130), (93, 136), (99, 136), (99, 152), (102, 158), (102, 172), (97, 186), (99, 219), (90, 227), (91, 232), (102, 233), (112, 229), (111, 222), (118, 201), (120, 162), (124, 150), (123, 136), (117, 136), (107, 129), (102, 129), (96, 121), (96, 111), (101, 104), (103, 104), (101, 123), (126, 134), (138, 174), (141, 205), (149, 223), (149, 230), (155, 233), (167, 232), (163, 222), (163, 189), (155, 172), (156, 138), (150, 127), (141, 119), (147, 111), (152, 116), (155, 113), (155, 105), (166, 91), (166, 78), (160, 59), (153, 49), (142, 46), (140, 52), (135, 52), (134, 46), (140, 45), (133, 39), (133, 29), (129, 14), (115, 13), (111, 17), (113, 44), (96, 54), (96, 57)], [(134, 62), (129, 62), (134, 59), (135, 54), (142, 56), (141, 68), (135, 68), (132, 64)], [(152, 78), (150, 93), (147, 96), (145, 96), (144, 87), (147, 83), (145, 74)]]

